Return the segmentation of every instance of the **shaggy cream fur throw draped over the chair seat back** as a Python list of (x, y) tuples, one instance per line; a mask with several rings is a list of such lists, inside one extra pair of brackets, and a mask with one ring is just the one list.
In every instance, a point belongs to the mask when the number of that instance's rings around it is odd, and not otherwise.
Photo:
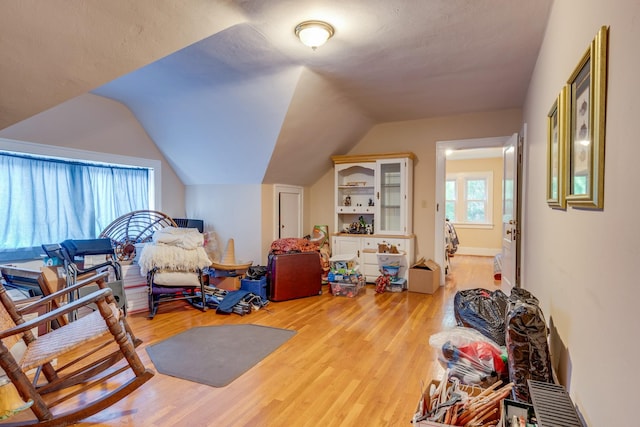
[(140, 274), (146, 274), (155, 267), (163, 270), (196, 271), (211, 265), (204, 247), (184, 249), (177, 246), (150, 243), (145, 245), (138, 259)]

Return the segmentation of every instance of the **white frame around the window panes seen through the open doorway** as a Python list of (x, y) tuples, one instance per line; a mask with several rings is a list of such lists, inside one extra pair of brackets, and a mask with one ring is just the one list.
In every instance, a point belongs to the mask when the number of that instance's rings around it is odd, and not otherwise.
[[(486, 181), (486, 208), (485, 208), (485, 221), (475, 222), (466, 220), (467, 212), (467, 181), (471, 180), (484, 180)], [(445, 177), (445, 183), (447, 181), (456, 181), (456, 219), (451, 221), (455, 226), (460, 228), (484, 228), (492, 229), (494, 227), (493, 217), (493, 171), (477, 171), (477, 172), (451, 172), (447, 173)], [(446, 200), (445, 203), (449, 200)], [(473, 200), (476, 201), (476, 200)], [(446, 209), (446, 207), (445, 207)]]

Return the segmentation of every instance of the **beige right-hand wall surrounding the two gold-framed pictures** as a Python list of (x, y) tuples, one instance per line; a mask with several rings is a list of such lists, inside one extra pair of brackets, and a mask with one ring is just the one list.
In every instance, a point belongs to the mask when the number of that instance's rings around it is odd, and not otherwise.
[[(555, 1), (523, 110), (522, 283), (541, 301), (558, 375), (589, 426), (637, 424), (639, 24), (637, 0)], [(602, 25), (610, 26), (604, 210), (553, 210), (545, 118)]]

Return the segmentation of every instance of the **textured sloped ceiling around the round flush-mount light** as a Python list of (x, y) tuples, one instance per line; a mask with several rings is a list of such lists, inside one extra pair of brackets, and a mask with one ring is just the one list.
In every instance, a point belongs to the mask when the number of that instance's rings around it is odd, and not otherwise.
[(376, 123), (521, 107), (551, 1), (8, 0), (0, 129), (90, 91), (185, 184), (307, 185)]

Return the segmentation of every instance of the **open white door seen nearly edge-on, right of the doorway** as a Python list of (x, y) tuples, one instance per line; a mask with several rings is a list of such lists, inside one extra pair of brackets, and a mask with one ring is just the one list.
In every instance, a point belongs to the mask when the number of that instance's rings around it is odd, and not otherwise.
[(507, 287), (518, 284), (518, 134), (504, 144), (504, 178), (502, 183), (502, 281)]

